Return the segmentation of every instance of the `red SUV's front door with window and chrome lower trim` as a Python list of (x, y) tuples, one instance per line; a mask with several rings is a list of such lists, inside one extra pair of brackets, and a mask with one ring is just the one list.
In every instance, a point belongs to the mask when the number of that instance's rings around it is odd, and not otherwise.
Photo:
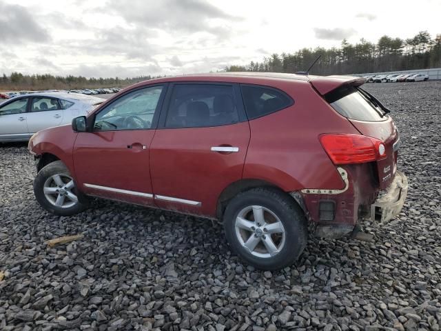
[(149, 148), (166, 86), (138, 88), (123, 94), (88, 121), (74, 144), (77, 185), (86, 194), (153, 205)]

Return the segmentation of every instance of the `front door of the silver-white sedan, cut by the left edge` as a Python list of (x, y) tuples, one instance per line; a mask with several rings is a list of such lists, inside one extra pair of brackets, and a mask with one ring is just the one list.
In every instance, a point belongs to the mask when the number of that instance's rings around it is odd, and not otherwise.
[(26, 126), (28, 101), (28, 98), (19, 98), (0, 105), (0, 141), (21, 141), (30, 138)]

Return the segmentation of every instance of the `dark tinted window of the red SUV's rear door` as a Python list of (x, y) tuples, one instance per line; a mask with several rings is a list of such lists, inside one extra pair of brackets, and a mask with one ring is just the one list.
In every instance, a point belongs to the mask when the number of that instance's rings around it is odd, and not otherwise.
[(225, 126), (239, 121), (233, 86), (176, 84), (165, 120), (166, 128)]

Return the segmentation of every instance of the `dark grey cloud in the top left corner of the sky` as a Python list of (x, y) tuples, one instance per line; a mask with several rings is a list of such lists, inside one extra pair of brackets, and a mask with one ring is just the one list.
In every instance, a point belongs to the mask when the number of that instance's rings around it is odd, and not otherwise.
[(46, 42), (50, 34), (22, 6), (0, 2), (0, 42)]

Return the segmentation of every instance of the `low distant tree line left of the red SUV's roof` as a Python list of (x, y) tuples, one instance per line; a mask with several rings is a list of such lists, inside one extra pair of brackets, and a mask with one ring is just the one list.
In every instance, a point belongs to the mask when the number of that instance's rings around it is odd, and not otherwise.
[(82, 76), (53, 76), (52, 74), (21, 74), (0, 76), (0, 90), (75, 90), (83, 88), (123, 88), (125, 86), (154, 79), (150, 75), (134, 78), (86, 78)]

